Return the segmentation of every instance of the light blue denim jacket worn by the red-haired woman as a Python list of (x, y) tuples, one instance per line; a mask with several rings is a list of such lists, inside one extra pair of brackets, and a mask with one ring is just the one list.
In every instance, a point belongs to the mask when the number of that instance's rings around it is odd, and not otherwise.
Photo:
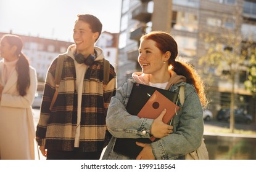
[[(134, 79), (128, 79), (110, 101), (106, 123), (113, 137), (102, 159), (130, 159), (113, 151), (116, 138), (150, 138), (149, 131), (153, 120), (140, 119), (130, 115), (125, 109), (134, 82)], [(199, 96), (194, 86), (186, 82), (173, 85), (170, 91), (178, 93), (181, 85), (185, 85), (185, 101), (183, 106), (178, 102), (180, 110), (171, 122), (173, 133), (151, 143), (153, 154), (159, 160), (184, 159), (184, 155), (196, 150), (202, 141), (204, 120)], [(146, 131), (146, 135), (142, 131)]]

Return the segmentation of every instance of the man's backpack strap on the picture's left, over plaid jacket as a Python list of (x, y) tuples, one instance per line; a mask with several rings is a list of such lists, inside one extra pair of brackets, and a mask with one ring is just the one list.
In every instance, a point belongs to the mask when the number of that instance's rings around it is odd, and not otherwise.
[(58, 90), (59, 90), (59, 84), (60, 84), (60, 77), (62, 74), (62, 68), (64, 65), (64, 54), (59, 55), (59, 57), (57, 58), (57, 66), (56, 66), (56, 72), (55, 72), (55, 92), (54, 95), (52, 97), (52, 102), (51, 102), (51, 106), (50, 106), (50, 111), (52, 109), (52, 106), (54, 105), (57, 95), (58, 95)]

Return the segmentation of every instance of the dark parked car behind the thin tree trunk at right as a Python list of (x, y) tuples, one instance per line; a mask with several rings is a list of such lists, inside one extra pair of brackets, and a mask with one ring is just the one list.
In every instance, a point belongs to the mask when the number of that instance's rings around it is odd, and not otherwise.
[[(230, 119), (230, 109), (220, 109), (217, 113), (218, 121), (229, 122)], [(242, 109), (234, 109), (234, 120), (239, 123), (252, 123), (252, 115), (246, 114)]]

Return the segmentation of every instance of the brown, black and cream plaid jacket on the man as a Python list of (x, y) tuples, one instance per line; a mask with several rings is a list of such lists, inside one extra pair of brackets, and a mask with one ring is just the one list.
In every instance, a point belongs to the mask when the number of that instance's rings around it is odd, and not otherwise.
[[(41, 114), (36, 129), (36, 140), (46, 139), (46, 149), (72, 151), (74, 148), (77, 92), (75, 90), (75, 63), (73, 58), (64, 58), (59, 93), (52, 111), (49, 110), (55, 92), (54, 76), (57, 60), (47, 72), (44, 85)], [(102, 151), (105, 141), (105, 117), (107, 108), (116, 90), (116, 74), (110, 65), (109, 82), (103, 90), (103, 60), (94, 61), (86, 71), (81, 100), (80, 148), (83, 152)]]

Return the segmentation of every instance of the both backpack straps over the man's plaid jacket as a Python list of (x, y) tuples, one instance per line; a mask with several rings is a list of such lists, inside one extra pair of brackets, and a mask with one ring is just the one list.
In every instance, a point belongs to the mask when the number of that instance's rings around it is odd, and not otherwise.
[[(50, 111), (51, 111), (52, 106), (54, 105), (57, 95), (58, 95), (60, 77), (61, 77), (62, 68), (64, 65), (64, 57), (65, 57), (65, 54), (60, 54), (57, 59), (57, 66), (56, 66), (56, 72), (55, 72), (55, 93), (54, 93), (54, 96), (52, 97)], [(108, 60), (105, 60), (105, 58), (103, 59), (103, 68), (104, 68), (103, 89), (105, 89), (107, 82), (109, 82), (109, 71), (110, 71), (110, 63)]]

